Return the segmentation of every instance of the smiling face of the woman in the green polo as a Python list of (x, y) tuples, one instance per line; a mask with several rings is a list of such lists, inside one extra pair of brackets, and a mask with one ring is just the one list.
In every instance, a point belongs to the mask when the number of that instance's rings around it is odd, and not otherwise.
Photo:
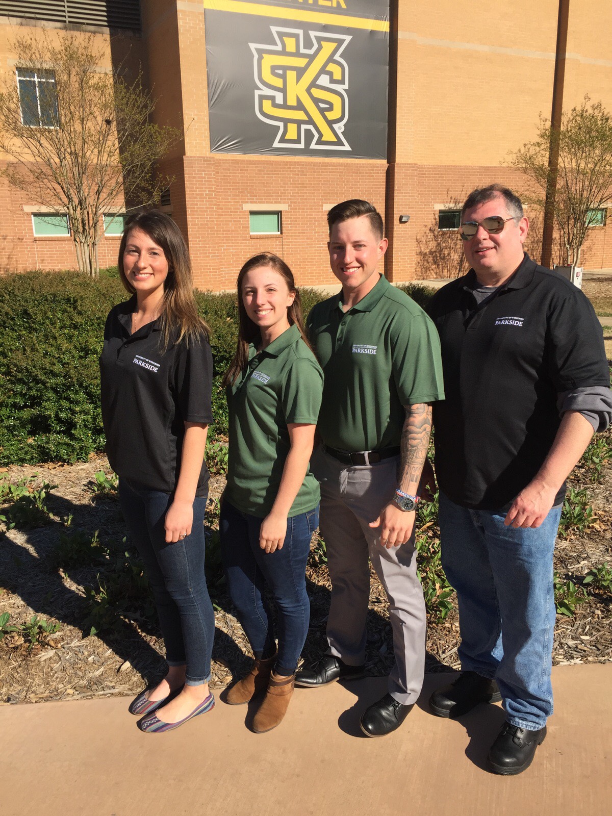
[(295, 291), (289, 289), (285, 278), (275, 269), (269, 266), (250, 269), (242, 279), (241, 296), (246, 314), (267, 343), (289, 328), (287, 309), (295, 299)]

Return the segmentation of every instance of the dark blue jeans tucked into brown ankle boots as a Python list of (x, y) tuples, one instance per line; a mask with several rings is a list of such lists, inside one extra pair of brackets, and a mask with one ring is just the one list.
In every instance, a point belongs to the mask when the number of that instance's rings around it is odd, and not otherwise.
[(272, 657), (276, 649), (272, 615), (264, 596), (268, 586), (278, 610), (278, 655), (274, 671), (294, 674), (310, 620), (306, 593), (306, 561), (310, 539), (319, 523), (319, 507), (287, 519), (281, 550), (259, 547), (263, 518), (221, 504), (221, 557), (229, 594), (256, 658)]

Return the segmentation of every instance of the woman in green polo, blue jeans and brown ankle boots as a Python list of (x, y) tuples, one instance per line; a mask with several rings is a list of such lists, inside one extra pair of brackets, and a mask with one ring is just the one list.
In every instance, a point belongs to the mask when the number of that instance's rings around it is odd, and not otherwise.
[[(224, 377), (229, 464), (220, 532), (229, 592), (255, 665), (226, 702), (247, 703), (265, 691), (253, 721), (262, 733), (285, 715), (308, 632), (306, 561), (319, 515), (308, 462), (323, 372), (282, 259), (264, 252), (246, 261), (237, 290), (238, 344)], [(278, 649), (265, 587), (277, 605)]]

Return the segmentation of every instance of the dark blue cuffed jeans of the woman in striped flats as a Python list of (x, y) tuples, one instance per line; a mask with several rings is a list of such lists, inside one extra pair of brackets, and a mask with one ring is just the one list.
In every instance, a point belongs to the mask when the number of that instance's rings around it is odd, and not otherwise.
[(193, 502), (193, 527), (166, 544), (164, 522), (173, 496), (119, 479), (119, 499), (131, 539), (153, 590), (169, 666), (186, 666), (186, 684), (211, 678), (215, 613), (204, 574), (206, 496)]

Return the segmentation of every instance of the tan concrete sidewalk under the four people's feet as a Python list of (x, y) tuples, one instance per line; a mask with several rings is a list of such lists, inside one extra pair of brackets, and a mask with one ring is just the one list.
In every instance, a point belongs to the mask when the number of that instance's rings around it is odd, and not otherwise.
[(384, 678), (295, 690), (285, 721), (246, 729), (221, 703), (168, 734), (141, 734), (128, 698), (0, 706), (2, 816), (481, 816), (612, 813), (612, 664), (553, 669), (557, 714), (517, 777), (484, 769), (499, 706), (461, 721), (426, 710), (430, 675), (401, 729), (358, 721)]

